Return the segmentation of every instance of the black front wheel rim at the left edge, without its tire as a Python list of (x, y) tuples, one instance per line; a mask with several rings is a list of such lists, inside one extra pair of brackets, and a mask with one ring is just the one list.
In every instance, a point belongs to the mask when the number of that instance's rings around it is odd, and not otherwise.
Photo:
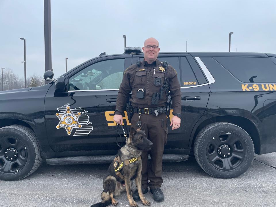
[(0, 137), (0, 172), (13, 174), (20, 171), (28, 158), (27, 149), (16, 137)]

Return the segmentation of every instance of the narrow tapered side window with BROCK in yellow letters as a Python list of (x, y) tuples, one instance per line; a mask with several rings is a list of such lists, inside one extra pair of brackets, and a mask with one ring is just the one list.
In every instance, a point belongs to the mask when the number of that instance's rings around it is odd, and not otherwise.
[(196, 79), (193, 70), (191, 69), (190, 64), (186, 57), (180, 58), (181, 62), (181, 72), (182, 72), (182, 83), (181, 87), (199, 85), (198, 80)]

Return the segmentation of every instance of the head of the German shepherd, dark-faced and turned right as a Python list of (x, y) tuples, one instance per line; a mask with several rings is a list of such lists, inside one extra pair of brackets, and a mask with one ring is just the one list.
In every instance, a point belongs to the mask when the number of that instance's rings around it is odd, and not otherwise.
[(150, 150), (153, 143), (147, 139), (144, 127), (145, 125), (143, 125), (137, 130), (131, 127), (129, 132), (129, 139), (127, 141), (128, 145), (136, 148), (137, 150)]

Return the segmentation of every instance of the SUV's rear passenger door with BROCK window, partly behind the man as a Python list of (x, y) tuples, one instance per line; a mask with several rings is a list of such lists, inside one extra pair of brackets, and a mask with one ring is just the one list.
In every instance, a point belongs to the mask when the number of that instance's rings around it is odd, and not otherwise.
[[(143, 55), (133, 55), (133, 64), (143, 60)], [(177, 72), (181, 85), (181, 127), (172, 130), (169, 126), (173, 109), (168, 117), (168, 141), (165, 149), (188, 149), (191, 131), (203, 115), (210, 95), (206, 77), (196, 60), (188, 53), (159, 54), (158, 60), (167, 61)]]

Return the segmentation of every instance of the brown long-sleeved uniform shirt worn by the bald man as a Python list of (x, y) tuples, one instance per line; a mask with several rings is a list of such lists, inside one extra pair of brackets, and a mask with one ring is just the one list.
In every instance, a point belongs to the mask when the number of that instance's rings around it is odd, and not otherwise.
[[(154, 64), (155, 63), (155, 64)], [(169, 94), (172, 97), (173, 113), (181, 114), (181, 91), (180, 84), (177, 79), (177, 72), (172, 66), (168, 66), (165, 70), (168, 78)], [(155, 71), (155, 72), (154, 72)], [(156, 80), (155, 80), (156, 79)], [(168, 100), (168, 92), (160, 97), (158, 104), (152, 104), (153, 93), (160, 93), (160, 88), (163, 86), (165, 80), (165, 71), (161, 62), (156, 59), (152, 64), (141, 62), (138, 67), (136, 64), (131, 65), (124, 72), (122, 83), (118, 92), (116, 101), (116, 110), (121, 114), (128, 102), (129, 93), (132, 91), (131, 103), (137, 108), (156, 108), (158, 106), (166, 106)], [(144, 89), (144, 98), (136, 97), (138, 89)], [(115, 114), (120, 114), (118, 111)]]

